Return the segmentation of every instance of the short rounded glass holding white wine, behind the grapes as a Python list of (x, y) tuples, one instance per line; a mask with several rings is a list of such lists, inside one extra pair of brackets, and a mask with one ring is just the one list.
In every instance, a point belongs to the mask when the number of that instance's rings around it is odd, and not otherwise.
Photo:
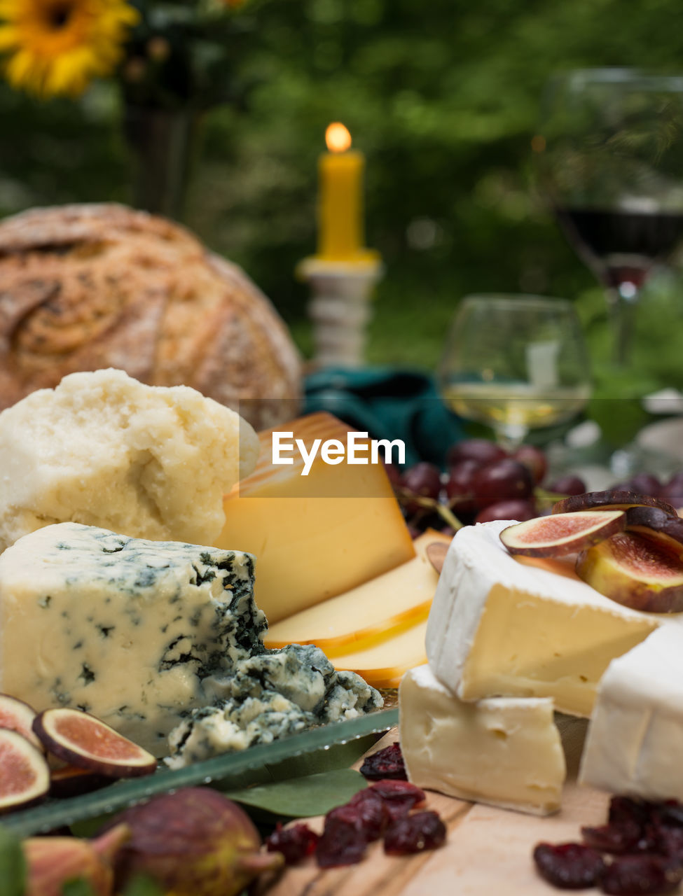
[(464, 298), (437, 376), (448, 407), (492, 426), (506, 451), (530, 429), (575, 417), (591, 394), (581, 324), (562, 298)]

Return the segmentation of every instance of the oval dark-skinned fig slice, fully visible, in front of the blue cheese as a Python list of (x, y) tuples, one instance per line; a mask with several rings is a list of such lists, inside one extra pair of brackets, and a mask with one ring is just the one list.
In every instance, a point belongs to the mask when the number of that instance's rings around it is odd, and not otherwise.
[(142, 746), (81, 710), (45, 710), (34, 719), (33, 730), (58, 759), (109, 778), (137, 778), (157, 767)]

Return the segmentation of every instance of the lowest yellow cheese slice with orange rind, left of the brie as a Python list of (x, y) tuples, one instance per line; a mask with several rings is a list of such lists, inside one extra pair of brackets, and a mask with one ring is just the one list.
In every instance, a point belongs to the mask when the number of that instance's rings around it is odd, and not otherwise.
[(386, 638), (365, 650), (330, 657), (335, 669), (349, 669), (373, 687), (398, 687), (408, 669), (427, 661), (427, 621)]

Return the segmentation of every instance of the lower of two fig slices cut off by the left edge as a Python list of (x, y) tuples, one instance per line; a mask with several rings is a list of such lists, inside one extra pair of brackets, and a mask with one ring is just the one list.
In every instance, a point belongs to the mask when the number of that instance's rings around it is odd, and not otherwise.
[(0, 813), (38, 803), (49, 788), (45, 756), (21, 734), (0, 729)]

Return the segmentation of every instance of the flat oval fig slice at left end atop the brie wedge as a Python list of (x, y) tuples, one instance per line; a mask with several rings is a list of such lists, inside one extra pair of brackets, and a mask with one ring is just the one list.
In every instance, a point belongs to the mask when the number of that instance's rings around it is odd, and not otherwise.
[(561, 557), (596, 545), (624, 529), (623, 510), (583, 510), (517, 522), (500, 533), (511, 554)]

